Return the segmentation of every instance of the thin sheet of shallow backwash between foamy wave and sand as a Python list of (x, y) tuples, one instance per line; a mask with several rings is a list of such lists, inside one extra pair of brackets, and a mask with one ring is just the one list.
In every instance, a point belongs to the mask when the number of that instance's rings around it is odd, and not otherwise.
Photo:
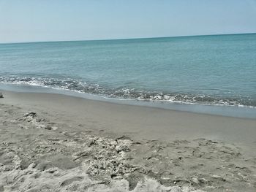
[(19, 93), (56, 93), (65, 96), (78, 97), (93, 101), (103, 101), (113, 104), (126, 104), (139, 107), (152, 107), (163, 110), (192, 112), (197, 114), (218, 115), (233, 118), (248, 118), (256, 120), (256, 107), (251, 106), (117, 99), (107, 96), (94, 95), (91, 93), (80, 93), (78, 91), (71, 91), (66, 89), (48, 88), (38, 85), (15, 85), (8, 83), (0, 83), (0, 91), (1, 90), (11, 92), (14, 91)]

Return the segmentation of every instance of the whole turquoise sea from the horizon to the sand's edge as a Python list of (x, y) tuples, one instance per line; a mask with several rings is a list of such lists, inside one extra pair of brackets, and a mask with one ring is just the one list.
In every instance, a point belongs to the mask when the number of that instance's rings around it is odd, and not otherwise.
[(256, 118), (256, 34), (0, 44), (0, 89)]

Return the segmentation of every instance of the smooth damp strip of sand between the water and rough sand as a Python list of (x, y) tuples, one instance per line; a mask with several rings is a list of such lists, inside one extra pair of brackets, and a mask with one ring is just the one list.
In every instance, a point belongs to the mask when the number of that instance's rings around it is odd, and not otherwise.
[[(29, 109), (33, 106), (32, 109), (45, 110), (45, 112), (57, 112), (59, 110), (59, 112), (65, 116), (64, 118), (82, 120), (84, 112), (86, 112), (87, 117), (95, 122), (104, 120), (104, 123), (111, 124), (112, 127), (108, 127), (109, 131), (113, 131), (113, 128), (115, 128), (115, 131), (136, 131), (135, 128), (132, 128), (132, 122), (134, 122), (136, 127), (141, 127), (139, 128), (139, 131), (145, 131), (145, 127), (154, 131), (154, 127), (157, 126), (162, 127), (163, 132), (174, 131), (173, 129), (181, 130), (182, 128), (189, 131), (189, 128), (192, 129), (192, 132), (203, 131), (207, 133), (207, 131), (209, 131), (207, 134), (200, 135), (193, 134), (191, 132), (189, 133), (189, 137), (192, 137), (193, 135), (194, 137), (208, 136), (211, 137), (208, 139), (220, 139), (228, 142), (256, 142), (253, 137), (254, 135), (247, 138), (246, 141), (244, 141), (244, 139), (239, 139), (244, 132), (253, 132), (256, 135), (256, 119), (209, 115), (150, 106), (120, 104), (108, 101), (85, 99), (76, 96), (67, 96), (59, 93), (1, 92), (6, 96), (5, 99), (2, 100), (7, 104), (15, 104)], [(116, 122), (113, 122), (113, 120), (116, 120)], [(138, 125), (136, 125), (136, 123), (138, 123)], [(129, 126), (129, 124), (131, 125)], [(119, 125), (123, 127), (125, 126), (125, 128), (117, 130), (116, 126)], [(246, 127), (244, 127), (245, 125)], [(171, 128), (172, 126), (176, 126), (176, 128)], [(214, 128), (217, 128), (215, 131), (220, 134), (214, 134)], [(225, 131), (225, 129), (227, 130)], [(181, 130), (181, 132), (182, 131), (183, 130)], [(231, 133), (233, 131), (238, 131), (238, 137), (231, 137)], [(182, 134), (181, 132), (175, 133), (178, 134), (179, 137), (185, 137), (188, 134), (188, 132), (185, 134)], [(166, 139), (163, 134), (158, 133), (157, 136), (159, 138), (162, 137)]]

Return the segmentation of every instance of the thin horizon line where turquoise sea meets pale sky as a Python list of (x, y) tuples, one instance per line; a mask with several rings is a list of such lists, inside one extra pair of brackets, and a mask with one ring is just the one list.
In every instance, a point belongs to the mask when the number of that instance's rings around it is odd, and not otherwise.
[(174, 38), (174, 37), (201, 37), (201, 36), (220, 36), (220, 35), (242, 35), (242, 34), (256, 34), (256, 32), (236, 33), (236, 34), (198, 34), (198, 35), (181, 35), (181, 36), (167, 36), (167, 37), (133, 37), (120, 39), (74, 39), (74, 40), (59, 40), (59, 41), (35, 41), (35, 42), (0, 42), (4, 44), (23, 44), (23, 43), (45, 43), (45, 42), (92, 42), (92, 41), (113, 41), (113, 40), (132, 40), (132, 39), (160, 39), (160, 38)]

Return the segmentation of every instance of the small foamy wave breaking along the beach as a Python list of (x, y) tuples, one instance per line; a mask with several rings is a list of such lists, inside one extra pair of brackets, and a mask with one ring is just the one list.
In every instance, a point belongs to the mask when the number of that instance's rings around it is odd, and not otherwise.
[(93, 82), (75, 80), (69, 77), (20, 77), (0, 76), (0, 82), (16, 85), (36, 85), (46, 88), (60, 88), (80, 93), (91, 93), (116, 99), (135, 99), (140, 101), (166, 101), (186, 104), (214, 104), (236, 105), (238, 107), (256, 107), (256, 100), (243, 98), (221, 98), (195, 93), (158, 93), (154, 91), (140, 91), (135, 88), (105, 88)]

